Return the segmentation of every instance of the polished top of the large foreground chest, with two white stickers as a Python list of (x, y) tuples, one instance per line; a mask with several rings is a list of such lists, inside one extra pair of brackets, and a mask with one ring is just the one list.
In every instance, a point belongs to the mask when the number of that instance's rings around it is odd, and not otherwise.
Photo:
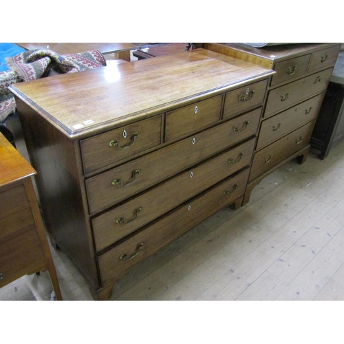
[(273, 73), (197, 49), (17, 83), (10, 89), (67, 136), (80, 137)]

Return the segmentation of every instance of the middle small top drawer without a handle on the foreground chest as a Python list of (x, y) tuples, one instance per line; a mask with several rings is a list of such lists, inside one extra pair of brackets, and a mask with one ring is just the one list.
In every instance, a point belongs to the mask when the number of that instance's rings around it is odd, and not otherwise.
[(166, 142), (220, 120), (222, 95), (166, 113)]

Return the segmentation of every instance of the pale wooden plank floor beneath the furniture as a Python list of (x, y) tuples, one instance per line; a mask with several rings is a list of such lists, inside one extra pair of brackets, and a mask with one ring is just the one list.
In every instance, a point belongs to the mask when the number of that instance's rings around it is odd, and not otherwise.
[[(91, 300), (83, 277), (52, 250), (63, 299)], [(0, 289), (0, 300), (49, 300), (49, 276)], [(344, 142), (290, 162), (250, 202), (224, 208), (144, 261), (113, 300), (344, 300)]]

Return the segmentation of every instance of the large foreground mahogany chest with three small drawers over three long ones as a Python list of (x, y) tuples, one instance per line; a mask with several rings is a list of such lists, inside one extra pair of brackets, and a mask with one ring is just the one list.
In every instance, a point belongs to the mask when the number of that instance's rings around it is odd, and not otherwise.
[(12, 87), (52, 241), (95, 299), (241, 206), (273, 74), (200, 49)]

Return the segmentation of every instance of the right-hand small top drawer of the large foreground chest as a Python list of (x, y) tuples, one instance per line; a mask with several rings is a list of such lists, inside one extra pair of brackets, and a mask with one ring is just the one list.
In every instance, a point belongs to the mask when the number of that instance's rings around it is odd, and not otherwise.
[(224, 101), (224, 118), (233, 117), (245, 109), (264, 102), (268, 80), (262, 80), (252, 85), (246, 85), (226, 93)]

